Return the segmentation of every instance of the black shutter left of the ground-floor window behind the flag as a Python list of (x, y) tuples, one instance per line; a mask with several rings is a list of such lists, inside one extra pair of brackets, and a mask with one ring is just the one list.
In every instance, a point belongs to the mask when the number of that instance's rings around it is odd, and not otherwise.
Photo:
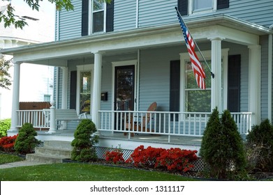
[(170, 61), (170, 111), (179, 111), (179, 104), (180, 61)]

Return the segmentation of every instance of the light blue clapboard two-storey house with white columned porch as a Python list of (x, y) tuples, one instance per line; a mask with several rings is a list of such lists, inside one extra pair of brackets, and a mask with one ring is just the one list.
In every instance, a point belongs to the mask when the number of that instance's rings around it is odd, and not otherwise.
[[(54, 66), (56, 108), (87, 112), (101, 135), (99, 146), (198, 147), (215, 107), (232, 112), (242, 136), (251, 125), (272, 120), (272, 0), (72, 3), (73, 11), (57, 12), (55, 42), (1, 52), (14, 56), (16, 77), (22, 63)], [(205, 91), (193, 78), (175, 6), (214, 72), (212, 79), (204, 65)], [(9, 134), (20, 127), (19, 88), (13, 93)], [(152, 102), (157, 108), (149, 118)], [(124, 136), (126, 118), (144, 132)], [(40, 139), (73, 139), (50, 125), (52, 134)], [(75, 130), (75, 123), (66, 128)]]

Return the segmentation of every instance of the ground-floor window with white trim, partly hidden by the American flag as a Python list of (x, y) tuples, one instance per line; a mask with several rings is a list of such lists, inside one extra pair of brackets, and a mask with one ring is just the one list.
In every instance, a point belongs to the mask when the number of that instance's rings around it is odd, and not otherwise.
[[(211, 68), (211, 51), (202, 51), (203, 56)], [(228, 68), (228, 49), (222, 49), (221, 60), (221, 104), (224, 109), (227, 108), (227, 68)], [(206, 90), (198, 88), (193, 70), (191, 67), (191, 61), (189, 59), (189, 53), (180, 54), (181, 65), (181, 79), (180, 79), (180, 111), (186, 112), (210, 112), (211, 111), (211, 87), (212, 77), (207, 65), (205, 65), (202, 57), (199, 56), (200, 63), (205, 70), (205, 84)]]

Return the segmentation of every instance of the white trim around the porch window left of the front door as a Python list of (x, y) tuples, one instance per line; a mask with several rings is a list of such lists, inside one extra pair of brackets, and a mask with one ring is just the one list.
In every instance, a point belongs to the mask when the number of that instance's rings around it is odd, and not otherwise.
[[(76, 97), (76, 111), (80, 114), (80, 73), (81, 72), (91, 72), (91, 94), (90, 102), (93, 102), (93, 83), (94, 83), (94, 64), (87, 65), (77, 65), (77, 97)], [(90, 110), (91, 113), (91, 110)]]

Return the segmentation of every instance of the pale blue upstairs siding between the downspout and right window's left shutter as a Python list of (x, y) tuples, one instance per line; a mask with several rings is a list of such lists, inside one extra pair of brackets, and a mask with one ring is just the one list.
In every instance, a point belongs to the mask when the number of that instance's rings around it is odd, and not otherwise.
[(175, 6), (177, 6), (177, 0), (139, 0), (138, 27), (177, 22)]

